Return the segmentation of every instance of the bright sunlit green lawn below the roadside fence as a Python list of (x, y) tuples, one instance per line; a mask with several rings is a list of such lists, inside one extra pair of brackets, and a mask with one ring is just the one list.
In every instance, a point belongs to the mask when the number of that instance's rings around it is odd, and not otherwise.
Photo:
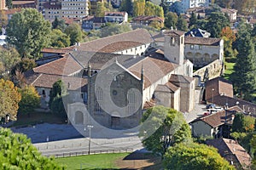
[(73, 156), (55, 158), (55, 161), (61, 165), (67, 166), (67, 170), (80, 169), (118, 169), (115, 166), (115, 161), (123, 159), (130, 153), (118, 153), (118, 154), (98, 154), (90, 156)]

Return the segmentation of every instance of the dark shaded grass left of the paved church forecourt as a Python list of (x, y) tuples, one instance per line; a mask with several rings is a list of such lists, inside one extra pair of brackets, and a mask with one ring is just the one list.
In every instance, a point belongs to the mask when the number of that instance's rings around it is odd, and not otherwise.
[(18, 115), (17, 121), (14, 123), (13, 127), (26, 127), (43, 122), (64, 123), (65, 119), (50, 112), (34, 111), (30, 116)]

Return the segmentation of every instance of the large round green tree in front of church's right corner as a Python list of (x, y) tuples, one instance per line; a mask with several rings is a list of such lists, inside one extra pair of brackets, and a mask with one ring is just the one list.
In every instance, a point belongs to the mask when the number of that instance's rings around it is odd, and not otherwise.
[(142, 122), (139, 135), (143, 137), (143, 145), (161, 156), (168, 147), (191, 139), (189, 125), (176, 110), (156, 106), (143, 114)]

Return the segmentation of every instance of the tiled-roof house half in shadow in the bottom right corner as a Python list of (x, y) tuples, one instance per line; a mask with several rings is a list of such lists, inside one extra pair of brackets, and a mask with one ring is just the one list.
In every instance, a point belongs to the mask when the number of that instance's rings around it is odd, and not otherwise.
[(236, 169), (250, 169), (252, 158), (237, 141), (233, 139), (208, 139), (207, 145), (218, 149), (220, 156), (224, 157)]

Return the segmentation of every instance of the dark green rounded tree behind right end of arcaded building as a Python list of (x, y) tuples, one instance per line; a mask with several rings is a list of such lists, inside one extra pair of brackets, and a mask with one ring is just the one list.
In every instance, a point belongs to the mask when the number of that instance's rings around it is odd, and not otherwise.
[(230, 26), (228, 18), (219, 12), (212, 12), (208, 18), (207, 31), (211, 33), (211, 37), (220, 37), (220, 32), (225, 26)]

